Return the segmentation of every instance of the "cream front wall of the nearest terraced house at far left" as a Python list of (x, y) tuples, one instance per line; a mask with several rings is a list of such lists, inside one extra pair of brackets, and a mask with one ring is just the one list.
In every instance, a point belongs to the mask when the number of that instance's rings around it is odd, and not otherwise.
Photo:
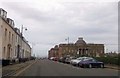
[(2, 20), (2, 56), (4, 59), (13, 59), (14, 58), (14, 48), (15, 48), (15, 32), (13, 28)]

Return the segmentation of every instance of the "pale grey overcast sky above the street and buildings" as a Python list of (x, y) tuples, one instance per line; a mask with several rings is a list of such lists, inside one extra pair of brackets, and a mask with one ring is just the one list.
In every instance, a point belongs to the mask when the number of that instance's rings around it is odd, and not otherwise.
[(83, 37), (87, 43), (105, 44), (107, 52), (118, 50), (116, 0), (0, 0), (0, 7), (15, 27), (28, 28), (23, 33), (34, 43), (36, 55), (47, 56), (54, 45), (67, 43), (67, 37), (71, 43)]

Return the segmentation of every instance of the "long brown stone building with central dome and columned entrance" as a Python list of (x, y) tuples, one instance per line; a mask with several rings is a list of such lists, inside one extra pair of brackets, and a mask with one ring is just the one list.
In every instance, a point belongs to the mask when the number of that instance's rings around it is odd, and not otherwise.
[[(57, 54), (57, 55), (54, 55)], [(104, 56), (104, 44), (87, 44), (82, 37), (78, 38), (75, 43), (59, 44), (49, 50), (49, 57), (63, 57), (63, 56)]]

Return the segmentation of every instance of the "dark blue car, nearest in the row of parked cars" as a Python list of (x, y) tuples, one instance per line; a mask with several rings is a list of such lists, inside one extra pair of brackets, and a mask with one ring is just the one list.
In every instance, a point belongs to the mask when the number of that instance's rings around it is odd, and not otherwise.
[(79, 66), (80, 67), (89, 67), (89, 68), (92, 68), (92, 67), (101, 67), (101, 68), (104, 68), (104, 63), (100, 62), (100, 61), (97, 61), (94, 58), (89, 58), (89, 59), (83, 59), (83, 60), (81, 60), (79, 62)]

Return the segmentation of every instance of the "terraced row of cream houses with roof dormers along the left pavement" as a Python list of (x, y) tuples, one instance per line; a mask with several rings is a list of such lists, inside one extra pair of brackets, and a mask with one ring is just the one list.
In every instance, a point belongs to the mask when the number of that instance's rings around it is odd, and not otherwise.
[(0, 8), (0, 59), (19, 60), (31, 57), (31, 47), (14, 27), (14, 21), (7, 18), (7, 12)]

